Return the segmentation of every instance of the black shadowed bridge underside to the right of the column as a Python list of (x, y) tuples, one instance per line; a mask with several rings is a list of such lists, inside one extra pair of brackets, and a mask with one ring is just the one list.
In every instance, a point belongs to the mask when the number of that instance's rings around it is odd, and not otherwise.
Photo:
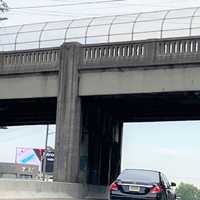
[(200, 119), (200, 92), (112, 95), (83, 98), (123, 122)]

